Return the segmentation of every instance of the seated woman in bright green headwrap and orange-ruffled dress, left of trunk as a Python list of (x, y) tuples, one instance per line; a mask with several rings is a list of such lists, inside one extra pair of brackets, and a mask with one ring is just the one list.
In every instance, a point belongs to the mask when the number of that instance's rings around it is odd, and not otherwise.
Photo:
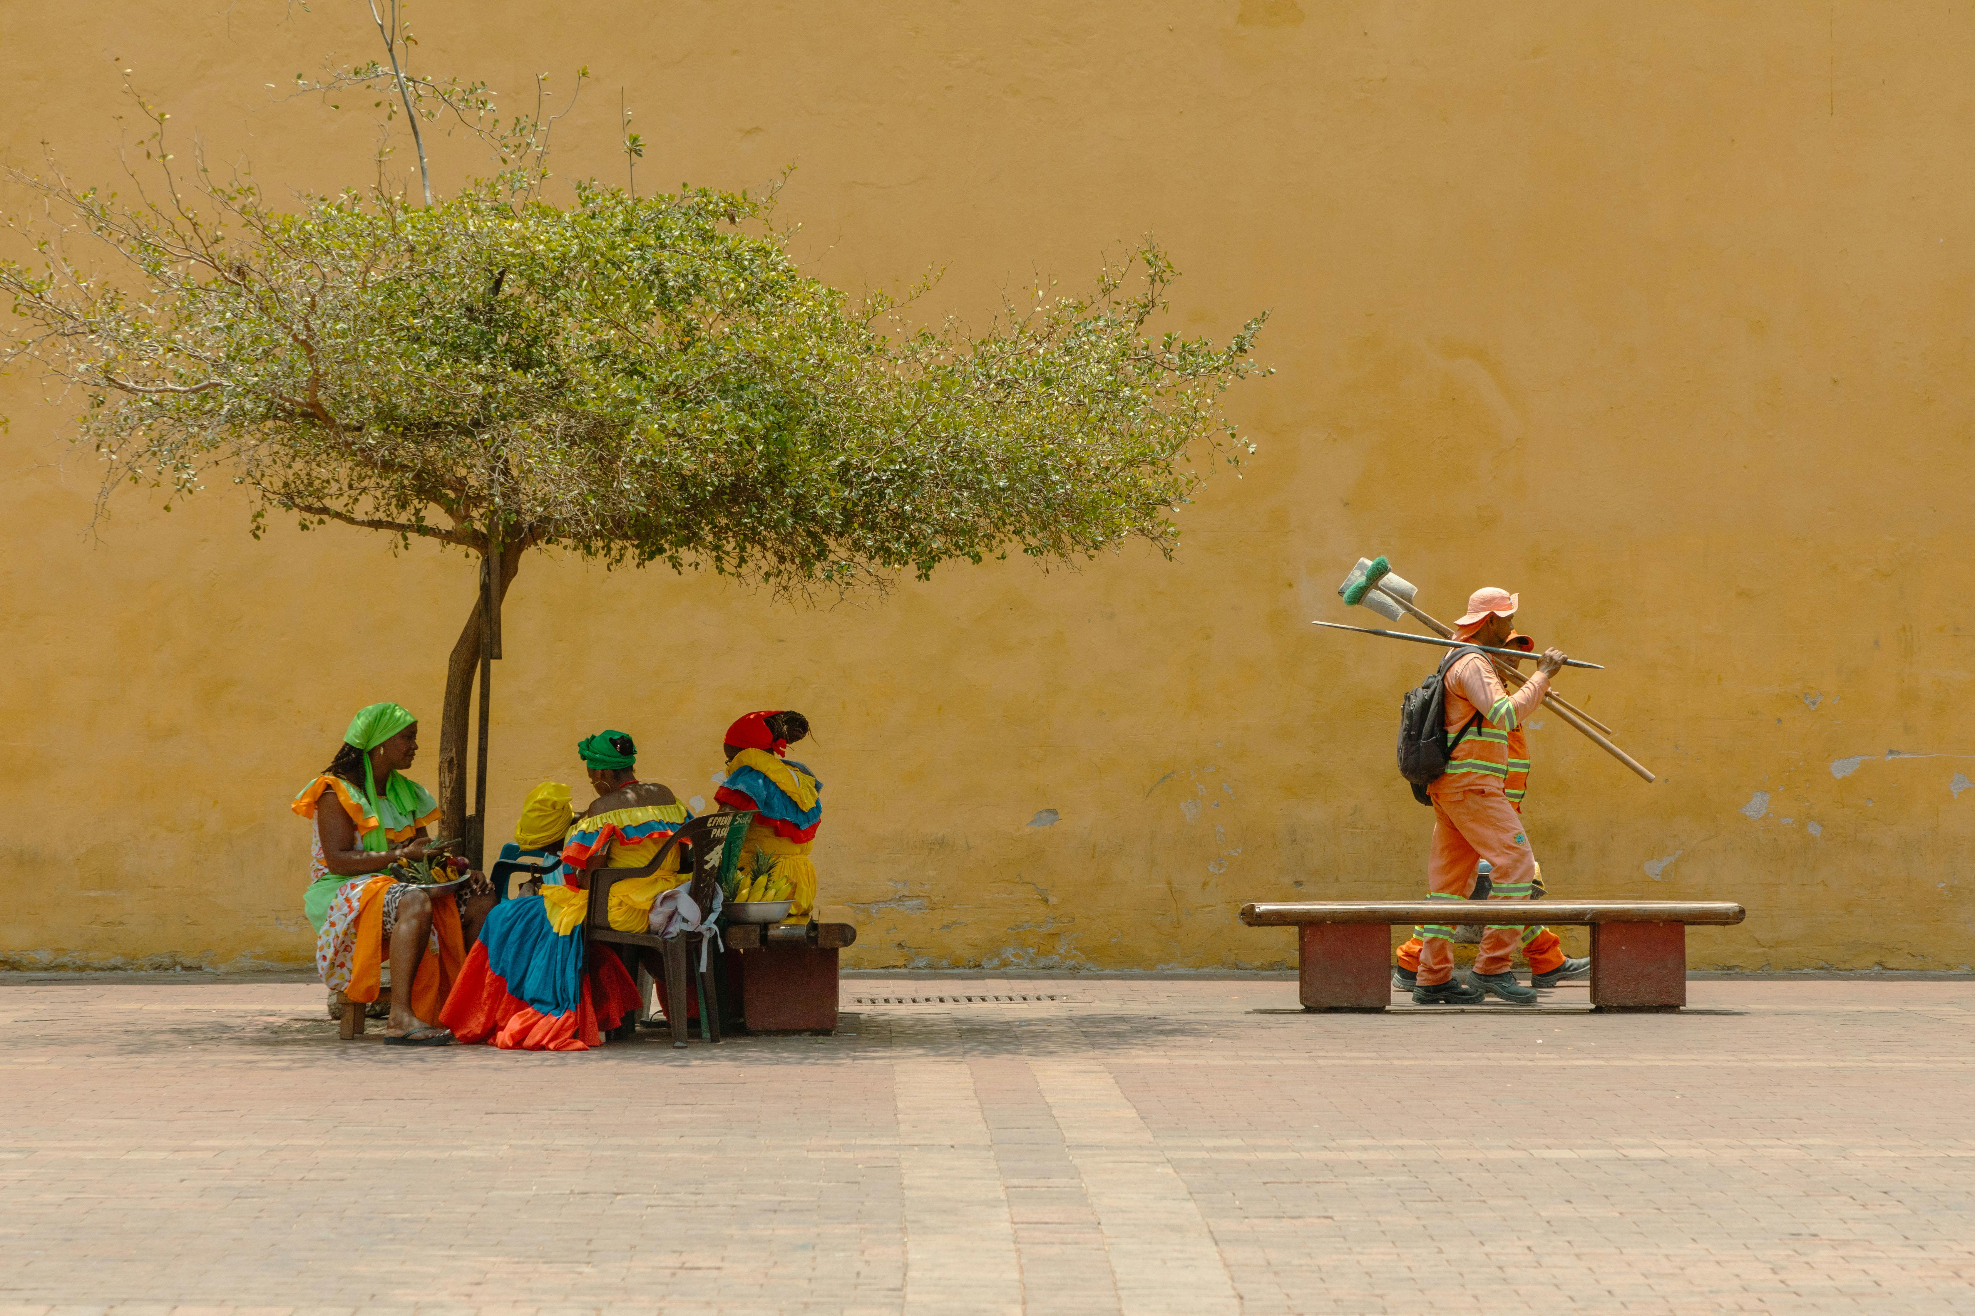
[[(399, 704), (371, 704), (344, 732), (344, 744), (290, 809), (314, 821), (310, 884), (302, 912), (316, 929), (316, 971), (346, 1010), (377, 1000), (385, 949), (391, 955), (391, 1012), (385, 1042), (444, 1046), (452, 1036), (427, 1020), (452, 988), (462, 943), (494, 906), (492, 890), (460, 888), (431, 896), (385, 870), (423, 858), (438, 801), (405, 775), (419, 756), (419, 722)], [(478, 874), (476, 874), (478, 878)], [(484, 888), (484, 880), (480, 882)], [(464, 908), (462, 908), (464, 904)], [(462, 929), (462, 917), (466, 927)]]

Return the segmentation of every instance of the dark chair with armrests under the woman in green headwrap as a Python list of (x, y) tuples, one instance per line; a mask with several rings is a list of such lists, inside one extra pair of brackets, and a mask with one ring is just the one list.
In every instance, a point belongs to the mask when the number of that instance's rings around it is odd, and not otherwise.
[[(699, 987), (699, 1036), (707, 1042), (721, 1040), (719, 988), (713, 985), (713, 965), (707, 959), (707, 941), (717, 933), (711, 921), (701, 925), (699, 931), (672, 937), (658, 937), (648, 931), (618, 931), (610, 925), (610, 888), (618, 882), (652, 876), (672, 850), (685, 846), (691, 854), (691, 878), (685, 894), (701, 912), (711, 912), (715, 888), (729, 886), (735, 870), (741, 866), (741, 846), (747, 841), (747, 829), (752, 821), (752, 809), (693, 819), (672, 833), (658, 854), (652, 856), (652, 862), (642, 868), (606, 868), (610, 846), (600, 846), (583, 872), (575, 874), (579, 878), (577, 886), (587, 888), (591, 894), (589, 914), (583, 921), (583, 935), (591, 947), (587, 953), (618, 955), (624, 959), (616, 947), (632, 947), (636, 957), (624, 965), (632, 977), (638, 975), (640, 965), (650, 971), (654, 967), (652, 957), (658, 957), (658, 973), (652, 973), (652, 977), (664, 975), (666, 981), (666, 1022), (672, 1024), (673, 1046), (685, 1046), (687, 983), (691, 979), (697, 979)], [(687, 955), (693, 957), (695, 971), (687, 971)], [(634, 1014), (606, 1036), (612, 1042), (622, 1042), (636, 1036), (636, 1032), (638, 1018)]]

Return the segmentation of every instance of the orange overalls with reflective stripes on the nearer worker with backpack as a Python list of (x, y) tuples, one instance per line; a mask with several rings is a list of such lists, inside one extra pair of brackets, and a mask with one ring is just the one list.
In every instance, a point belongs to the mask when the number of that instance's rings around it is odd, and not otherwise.
[[(1448, 758), (1448, 771), (1426, 787), (1434, 801), (1434, 844), (1426, 860), (1428, 900), (1467, 900), (1475, 870), (1491, 866), (1491, 900), (1527, 900), (1537, 876), (1537, 856), (1523, 831), (1523, 815), (1509, 803), (1509, 736), (1542, 700), (1550, 679), (1540, 671), (1509, 695), (1493, 663), (1463, 653), (1446, 673), (1448, 736), (1479, 716)], [(1527, 764), (1527, 750), (1523, 756)], [(1527, 773), (1527, 768), (1525, 768)], [(1418, 983), (1440, 987), (1454, 977), (1454, 927), (1426, 923), (1418, 929)], [(1523, 929), (1489, 925), (1481, 933), (1475, 973), (1507, 973)]]

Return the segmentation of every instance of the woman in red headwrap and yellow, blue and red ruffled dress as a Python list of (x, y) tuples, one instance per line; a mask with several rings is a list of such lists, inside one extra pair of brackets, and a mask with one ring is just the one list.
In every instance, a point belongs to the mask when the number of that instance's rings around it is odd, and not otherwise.
[(808, 923), (816, 908), (816, 829), (824, 823), (824, 783), (788, 758), (788, 746), (810, 734), (800, 712), (750, 712), (727, 728), (721, 750), (727, 773), (713, 799), (729, 809), (754, 809), (741, 848), (741, 872), (766, 862), (794, 884), (790, 923)]

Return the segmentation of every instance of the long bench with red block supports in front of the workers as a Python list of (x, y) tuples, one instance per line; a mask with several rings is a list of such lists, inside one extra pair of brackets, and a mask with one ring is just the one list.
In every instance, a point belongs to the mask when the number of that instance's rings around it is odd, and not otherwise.
[(1416, 923), (1588, 923), (1592, 1008), (1679, 1010), (1687, 1004), (1687, 927), (1744, 917), (1742, 906), (1681, 900), (1307, 900), (1240, 908), (1248, 927), (1298, 929), (1305, 1010), (1382, 1010), (1392, 1000), (1392, 925)]

